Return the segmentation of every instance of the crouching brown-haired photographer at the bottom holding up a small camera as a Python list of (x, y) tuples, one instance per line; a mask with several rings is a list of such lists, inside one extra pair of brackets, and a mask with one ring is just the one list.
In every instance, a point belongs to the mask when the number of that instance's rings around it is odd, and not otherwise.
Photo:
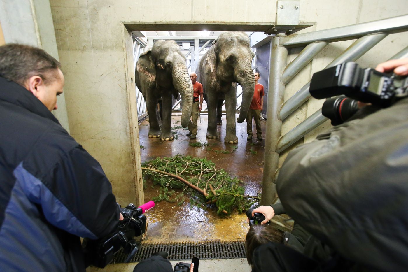
[(246, 234), (246, 258), (253, 272), (314, 271), (319, 263), (324, 264), (332, 257), (333, 250), (297, 222), (292, 232), (283, 232), (267, 224), (275, 215), (285, 213), (282, 203), (253, 209), (252, 217), (255, 213), (262, 213), (265, 219), (251, 226)]

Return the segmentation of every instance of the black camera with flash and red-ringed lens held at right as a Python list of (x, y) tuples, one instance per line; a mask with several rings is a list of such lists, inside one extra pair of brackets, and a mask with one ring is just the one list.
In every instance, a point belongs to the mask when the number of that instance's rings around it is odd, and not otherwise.
[(386, 108), (407, 97), (408, 77), (363, 69), (355, 62), (345, 62), (314, 73), (309, 92), (317, 99), (336, 95), (350, 97), (329, 98), (322, 106), (322, 114), (336, 126), (357, 112), (357, 101)]

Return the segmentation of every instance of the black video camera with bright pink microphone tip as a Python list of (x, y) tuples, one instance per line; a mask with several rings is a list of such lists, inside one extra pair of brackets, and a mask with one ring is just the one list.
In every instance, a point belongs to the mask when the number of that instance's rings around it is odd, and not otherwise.
[(94, 265), (104, 268), (111, 263), (115, 256), (123, 249), (124, 254), (128, 254), (125, 263), (128, 263), (136, 254), (138, 248), (134, 237), (144, 234), (146, 230), (146, 216), (144, 212), (155, 206), (153, 201), (149, 201), (142, 206), (136, 207), (130, 203), (126, 208), (120, 208), (123, 220), (113, 232), (101, 239), (92, 240), (85, 238), (82, 242), (85, 260), (87, 265)]

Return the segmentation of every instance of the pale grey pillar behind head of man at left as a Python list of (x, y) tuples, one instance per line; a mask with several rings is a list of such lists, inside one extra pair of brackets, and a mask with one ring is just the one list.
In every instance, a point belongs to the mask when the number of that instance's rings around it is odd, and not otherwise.
[[(0, 45), (19, 43), (37, 46), (59, 60), (49, 0), (0, 0), (0, 23)], [(53, 114), (69, 133), (64, 93), (58, 97), (57, 103), (58, 110)]]

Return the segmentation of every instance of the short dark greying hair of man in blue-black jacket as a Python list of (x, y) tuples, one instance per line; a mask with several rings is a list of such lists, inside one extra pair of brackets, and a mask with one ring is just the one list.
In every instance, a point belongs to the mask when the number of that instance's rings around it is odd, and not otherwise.
[(23, 44), (0, 46), (0, 75), (24, 86), (33, 75), (38, 75), (44, 84), (59, 78), (60, 62), (44, 50)]

